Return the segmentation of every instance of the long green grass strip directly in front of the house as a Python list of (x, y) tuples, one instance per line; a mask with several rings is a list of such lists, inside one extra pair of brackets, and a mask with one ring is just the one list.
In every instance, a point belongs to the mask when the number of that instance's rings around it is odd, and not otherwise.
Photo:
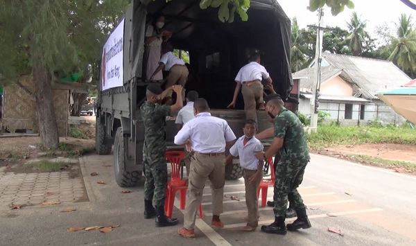
[(318, 132), (308, 134), (311, 148), (329, 147), (340, 144), (398, 143), (416, 145), (416, 130), (411, 128), (387, 127), (343, 127), (320, 125)]

